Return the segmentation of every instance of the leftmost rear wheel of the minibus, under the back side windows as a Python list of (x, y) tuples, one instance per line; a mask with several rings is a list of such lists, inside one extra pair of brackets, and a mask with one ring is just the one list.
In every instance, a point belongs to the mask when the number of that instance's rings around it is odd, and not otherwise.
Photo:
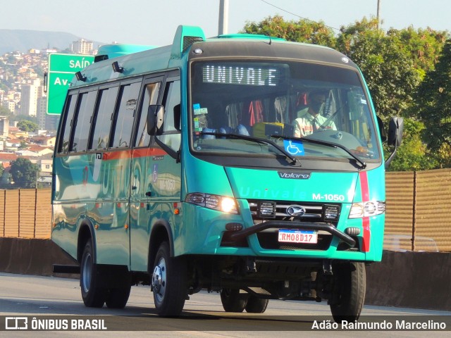
[(101, 308), (106, 299), (106, 289), (99, 287), (101, 275), (97, 272), (94, 264), (94, 249), (89, 239), (83, 249), (82, 262), (80, 265), (80, 287), (82, 299), (85, 306), (89, 308)]

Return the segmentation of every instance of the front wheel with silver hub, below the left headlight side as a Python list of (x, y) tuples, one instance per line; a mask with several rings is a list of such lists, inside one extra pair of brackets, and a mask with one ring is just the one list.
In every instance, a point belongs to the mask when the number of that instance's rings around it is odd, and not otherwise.
[(171, 257), (168, 242), (161, 243), (155, 256), (152, 291), (156, 313), (177, 316), (187, 297), (187, 268), (185, 260)]

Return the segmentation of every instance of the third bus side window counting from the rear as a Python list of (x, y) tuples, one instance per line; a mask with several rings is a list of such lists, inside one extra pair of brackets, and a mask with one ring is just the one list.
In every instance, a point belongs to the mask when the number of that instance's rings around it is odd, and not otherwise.
[(92, 141), (89, 150), (106, 149), (109, 144), (111, 120), (119, 87), (99, 90), (97, 111), (94, 115)]

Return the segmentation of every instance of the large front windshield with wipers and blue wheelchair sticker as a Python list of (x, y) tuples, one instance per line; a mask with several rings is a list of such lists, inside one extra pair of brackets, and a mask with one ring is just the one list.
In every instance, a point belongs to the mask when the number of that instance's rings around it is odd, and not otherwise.
[[(198, 154), (276, 156), (275, 142), (299, 158), (380, 162), (370, 110), (362, 79), (351, 68), (296, 61), (192, 63), (190, 127)], [(230, 137), (238, 134), (247, 137)]]

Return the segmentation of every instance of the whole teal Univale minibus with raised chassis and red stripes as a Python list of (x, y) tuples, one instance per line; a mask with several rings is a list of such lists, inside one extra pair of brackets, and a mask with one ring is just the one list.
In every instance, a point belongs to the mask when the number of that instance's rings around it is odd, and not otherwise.
[(179, 26), (142, 49), (102, 47), (68, 89), (51, 239), (74, 265), (54, 271), (80, 273), (89, 307), (147, 284), (159, 315), (208, 290), (229, 312), (313, 300), (357, 320), (402, 119), (385, 134), (357, 65), (323, 46)]

